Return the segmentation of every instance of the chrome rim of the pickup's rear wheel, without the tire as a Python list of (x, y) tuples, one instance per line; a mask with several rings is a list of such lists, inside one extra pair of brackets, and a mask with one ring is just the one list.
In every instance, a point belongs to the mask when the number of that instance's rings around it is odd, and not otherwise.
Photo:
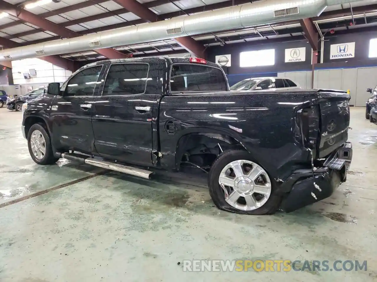
[(247, 160), (227, 164), (219, 176), (225, 202), (242, 211), (253, 211), (263, 206), (271, 195), (271, 181), (258, 164)]

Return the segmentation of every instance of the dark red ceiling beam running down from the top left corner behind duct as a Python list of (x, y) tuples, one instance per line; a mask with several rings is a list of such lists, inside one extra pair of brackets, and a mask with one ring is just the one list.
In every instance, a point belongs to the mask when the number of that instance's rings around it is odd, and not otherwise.
[[(25, 9), (21, 9), (15, 5), (9, 4), (8, 2), (5, 2), (3, 0), (0, 0), (0, 7), (2, 7), (3, 9), (7, 9), (9, 11), (14, 11), (14, 16), (21, 20), (27, 21), (28, 23), (34, 24), (35, 26), (39, 26), (44, 30), (54, 32), (57, 35), (60, 35), (64, 38), (79, 36), (78, 33), (70, 29), (62, 27), (56, 23), (52, 23), (51, 21), (41, 18), (38, 15), (35, 15)], [(94, 51), (109, 59), (121, 59), (129, 57), (129, 55), (118, 52), (112, 48), (97, 49)]]

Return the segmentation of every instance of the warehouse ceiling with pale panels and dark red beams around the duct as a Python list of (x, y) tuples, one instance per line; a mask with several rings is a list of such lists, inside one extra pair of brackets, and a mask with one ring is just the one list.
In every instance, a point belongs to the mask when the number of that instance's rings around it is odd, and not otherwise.
[[(180, 15), (250, 3), (246, 0), (0, 0), (0, 45), (4, 49), (133, 26)], [(5, 8), (3, 8), (5, 7)], [(130, 12), (133, 11), (133, 12)], [(151, 13), (152, 12), (152, 13)], [(152, 17), (152, 18), (151, 18)], [(155, 17), (155, 18), (154, 18)], [(374, 0), (331, 6), (307, 22), (324, 35), (377, 30)], [(308, 25), (308, 24), (307, 24)], [(169, 55), (247, 41), (308, 38), (302, 21), (255, 26), (165, 41), (62, 54), (59, 60), (93, 61), (127, 56)], [(335, 33), (332, 33), (334, 30)], [(188, 37), (188, 38), (187, 38)], [(310, 39), (308, 38), (308, 41)], [(55, 57), (55, 56), (49, 56)]]

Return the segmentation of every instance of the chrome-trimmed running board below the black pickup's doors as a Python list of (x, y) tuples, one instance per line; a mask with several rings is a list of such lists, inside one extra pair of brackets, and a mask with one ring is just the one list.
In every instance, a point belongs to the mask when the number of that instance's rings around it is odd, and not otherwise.
[(93, 159), (90, 156), (75, 153), (63, 153), (61, 154), (61, 157), (64, 159), (69, 159), (70, 161), (94, 165), (95, 167), (106, 168), (108, 170), (118, 171), (145, 179), (150, 179), (151, 174), (153, 174), (153, 171), (143, 170), (135, 167), (128, 167), (127, 165), (115, 164), (113, 162), (107, 162), (101, 159)]

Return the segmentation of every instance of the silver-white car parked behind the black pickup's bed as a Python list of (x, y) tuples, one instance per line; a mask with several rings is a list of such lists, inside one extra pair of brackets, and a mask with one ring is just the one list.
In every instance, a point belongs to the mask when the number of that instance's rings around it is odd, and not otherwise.
[(301, 87), (290, 79), (284, 77), (255, 77), (248, 78), (237, 82), (230, 87), (230, 90), (256, 91), (256, 90), (273, 90), (273, 89), (301, 89)]

